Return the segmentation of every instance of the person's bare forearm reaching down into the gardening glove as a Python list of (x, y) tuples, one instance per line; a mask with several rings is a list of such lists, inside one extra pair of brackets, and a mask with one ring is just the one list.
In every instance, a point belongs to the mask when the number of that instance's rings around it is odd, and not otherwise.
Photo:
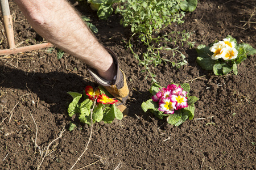
[(110, 54), (65, 0), (15, 0), (32, 28), (44, 39), (97, 70), (105, 79), (116, 74)]

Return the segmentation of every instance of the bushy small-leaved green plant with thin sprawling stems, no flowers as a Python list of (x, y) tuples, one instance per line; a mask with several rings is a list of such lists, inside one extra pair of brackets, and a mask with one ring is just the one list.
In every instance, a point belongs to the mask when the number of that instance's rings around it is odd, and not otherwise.
[[(185, 16), (185, 12), (181, 10), (181, 6), (185, 9), (182, 0), (172, 1), (153, 1), (153, 0), (121, 0), (121, 6), (118, 6), (115, 13), (119, 13), (123, 16), (120, 23), (123, 27), (131, 27), (133, 35), (130, 37), (127, 46), (131, 49), (135, 58), (138, 59), (139, 65), (144, 66), (144, 71), (148, 71), (148, 75), (151, 76), (152, 82), (156, 82), (154, 77), (156, 76), (150, 71), (150, 65), (156, 67), (160, 63), (171, 62), (172, 66), (180, 67), (186, 65), (185, 56), (179, 51), (178, 43), (183, 46), (187, 43), (190, 47), (193, 46), (193, 42), (189, 42), (189, 33), (184, 31), (169, 31), (164, 29), (172, 23), (182, 24), (184, 20), (181, 20)], [(186, 1), (187, 2), (187, 1)], [(190, 1), (189, 1), (190, 2)], [(196, 1), (197, 2), (197, 1)], [(197, 3), (196, 3), (197, 4)], [(190, 3), (186, 4), (188, 7)], [(141, 56), (134, 52), (135, 40), (140, 40), (143, 45), (146, 46), (146, 51)], [(173, 47), (176, 45), (176, 47)], [(171, 51), (172, 57), (179, 54), (177, 62), (174, 62), (171, 57), (164, 57), (163, 51)], [(147, 78), (146, 76), (146, 78)]]

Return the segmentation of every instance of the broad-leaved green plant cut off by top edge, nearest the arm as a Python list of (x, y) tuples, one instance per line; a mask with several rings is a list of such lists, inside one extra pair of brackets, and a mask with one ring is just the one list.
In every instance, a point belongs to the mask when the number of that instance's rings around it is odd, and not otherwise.
[(106, 20), (113, 13), (112, 5), (119, 0), (88, 0), (92, 10), (97, 11), (99, 19)]

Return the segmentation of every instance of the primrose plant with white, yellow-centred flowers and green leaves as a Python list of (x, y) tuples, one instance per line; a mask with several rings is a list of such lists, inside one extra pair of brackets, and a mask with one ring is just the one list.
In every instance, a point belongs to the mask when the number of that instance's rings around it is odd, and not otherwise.
[(197, 63), (204, 70), (213, 70), (215, 75), (238, 74), (237, 65), (247, 56), (256, 54), (256, 49), (246, 43), (237, 44), (236, 39), (227, 36), (223, 41), (206, 46), (197, 46)]

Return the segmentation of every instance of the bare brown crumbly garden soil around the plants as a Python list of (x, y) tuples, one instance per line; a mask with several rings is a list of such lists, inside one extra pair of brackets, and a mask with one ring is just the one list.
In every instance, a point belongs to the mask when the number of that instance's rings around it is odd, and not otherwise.
[[(197, 65), (195, 49), (184, 46), (181, 52), (188, 65), (181, 69), (171, 64), (156, 67), (161, 86), (191, 80), (190, 94), (200, 99), (195, 103), (193, 120), (175, 127), (141, 109), (142, 102), (150, 99), (151, 83), (144, 79), (146, 74), (140, 73), (143, 68), (125, 47), (123, 40), (129, 40), (131, 33), (119, 25), (121, 16), (102, 21), (88, 5), (76, 7), (99, 29), (99, 41), (119, 56), (130, 88), (129, 115), (112, 124), (94, 125), (89, 149), (76, 169), (92, 163), (86, 169), (256, 169), (255, 56), (240, 64), (238, 75), (215, 76)], [(10, 2), (10, 8), (15, 44), (42, 42), (15, 3)], [(256, 48), (255, 12), (255, 1), (202, 0), (185, 16), (183, 25), (172, 29), (191, 31), (190, 41), (196, 46), (231, 35), (239, 43)], [(250, 23), (245, 23), (248, 20)], [(3, 30), (2, 23), (0, 27)], [(1, 49), (7, 49), (2, 33), (0, 39)], [(56, 50), (49, 53), (47, 49), (1, 56), (0, 168), (36, 169), (41, 162), (39, 149), (34, 147), (36, 126), (32, 116), (38, 128), (36, 143), (42, 151), (66, 129), (53, 142), (41, 168), (71, 168), (88, 142), (90, 127), (80, 124), (76, 130), (67, 130), (69, 122), (78, 122), (68, 117), (67, 106), (72, 99), (67, 92), (82, 92), (87, 85), (96, 83), (84, 63), (69, 54), (60, 60)]]

